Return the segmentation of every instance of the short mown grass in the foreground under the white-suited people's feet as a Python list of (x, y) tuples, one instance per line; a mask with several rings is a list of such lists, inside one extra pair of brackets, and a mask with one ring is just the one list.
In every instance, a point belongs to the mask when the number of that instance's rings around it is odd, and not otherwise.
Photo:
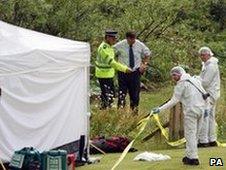
[[(141, 152), (129, 153), (116, 170), (212, 170), (212, 169), (226, 169), (223, 167), (210, 167), (210, 158), (222, 158), (223, 162), (226, 161), (226, 148), (213, 147), (208, 149), (199, 149), (199, 166), (183, 165), (181, 159), (184, 156), (184, 149), (172, 150), (158, 150), (155, 153), (169, 155), (170, 160), (156, 161), (156, 162), (143, 162), (133, 161), (133, 158)], [(100, 163), (78, 167), (78, 170), (110, 170), (115, 161), (119, 158), (120, 154), (107, 154), (104, 156)]]

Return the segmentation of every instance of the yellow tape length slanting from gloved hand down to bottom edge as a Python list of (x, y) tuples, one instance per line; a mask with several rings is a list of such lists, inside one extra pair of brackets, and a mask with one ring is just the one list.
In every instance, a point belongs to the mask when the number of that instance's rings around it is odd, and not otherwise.
[(111, 170), (114, 170), (119, 164), (120, 162), (122, 162), (122, 160), (125, 158), (126, 154), (129, 152), (130, 148), (132, 147), (133, 143), (135, 142), (135, 140), (140, 136), (140, 134), (144, 131), (150, 117), (152, 116), (152, 112), (148, 115), (148, 117), (142, 119), (140, 122), (139, 122), (139, 125), (138, 125), (138, 129), (139, 129), (139, 132), (138, 134), (136, 135), (136, 137), (129, 143), (129, 145), (124, 149), (124, 151), (122, 152), (121, 156), (119, 157), (119, 159), (116, 161), (116, 163), (114, 164), (114, 166), (111, 168)]

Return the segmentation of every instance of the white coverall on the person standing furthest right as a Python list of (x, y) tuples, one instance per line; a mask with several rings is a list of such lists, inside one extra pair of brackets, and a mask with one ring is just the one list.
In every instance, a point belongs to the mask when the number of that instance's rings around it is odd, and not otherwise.
[(203, 126), (199, 134), (199, 142), (209, 143), (217, 140), (215, 109), (217, 100), (220, 97), (220, 73), (217, 58), (210, 57), (209, 60), (203, 63), (200, 80), (206, 92), (210, 94), (210, 104), (207, 108), (209, 114), (204, 117)]

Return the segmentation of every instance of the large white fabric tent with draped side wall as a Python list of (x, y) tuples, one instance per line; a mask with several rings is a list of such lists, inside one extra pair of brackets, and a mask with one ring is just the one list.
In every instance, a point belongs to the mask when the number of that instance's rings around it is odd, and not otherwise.
[(0, 159), (88, 136), (90, 46), (0, 21)]

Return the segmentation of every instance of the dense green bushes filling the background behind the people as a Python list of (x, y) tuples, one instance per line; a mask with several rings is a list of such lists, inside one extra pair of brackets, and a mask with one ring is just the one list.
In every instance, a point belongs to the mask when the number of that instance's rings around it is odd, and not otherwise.
[(197, 73), (197, 50), (203, 45), (210, 46), (224, 66), (225, 11), (224, 0), (0, 1), (3, 21), (90, 42), (92, 63), (106, 28), (118, 30), (120, 39), (129, 29), (136, 30), (138, 38), (153, 52), (145, 75), (151, 82), (168, 80), (168, 71), (177, 64), (188, 65), (192, 73)]

